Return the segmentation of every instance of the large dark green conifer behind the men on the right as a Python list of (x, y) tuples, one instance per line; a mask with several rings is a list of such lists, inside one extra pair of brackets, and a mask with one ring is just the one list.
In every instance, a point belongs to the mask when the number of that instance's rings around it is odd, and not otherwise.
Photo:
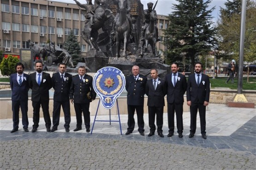
[(191, 61), (194, 72), (195, 60), (199, 55), (207, 54), (216, 44), (215, 29), (212, 27), (211, 12), (207, 10), (211, 0), (177, 0), (174, 12), (169, 14), (169, 26), (165, 30), (167, 61), (182, 61), (181, 54)]

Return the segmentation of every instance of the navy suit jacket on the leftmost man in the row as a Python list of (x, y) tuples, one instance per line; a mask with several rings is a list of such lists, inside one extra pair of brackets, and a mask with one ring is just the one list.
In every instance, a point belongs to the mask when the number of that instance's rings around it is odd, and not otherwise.
[(23, 74), (24, 79), (21, 85), (17, 82), (17, 73), (11, 74), (10, 76), (10, 86), (12, 89), (12, 100), (29, 100), (28, 91), (30, 89), (29, 86), (29, 75)]

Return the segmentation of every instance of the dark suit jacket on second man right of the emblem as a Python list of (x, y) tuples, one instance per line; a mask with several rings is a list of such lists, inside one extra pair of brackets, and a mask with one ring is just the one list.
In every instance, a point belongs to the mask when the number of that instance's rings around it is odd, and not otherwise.
[(153, 86), (153, 80), (148, 80), (146, 83), (146, 94), (148, 96), (148, 106), (161, 107), (165, 106), (164, 96), (166, 95), (166, 90), (164, 86), (164, 80), (158, 78), (156, 88)]

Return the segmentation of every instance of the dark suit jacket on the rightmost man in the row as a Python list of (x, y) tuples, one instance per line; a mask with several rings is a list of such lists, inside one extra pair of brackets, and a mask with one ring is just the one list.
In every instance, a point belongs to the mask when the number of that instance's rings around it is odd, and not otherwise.
[(205, 74), (202, 74), (201, 82), (199, 86), (196, 83), (195, 74), (189, 76), (188, 86), (187, 86), (187, 101), (192, 103), (204, 101), (209, 102), (210, 97), (210, 80), (209, 77)]

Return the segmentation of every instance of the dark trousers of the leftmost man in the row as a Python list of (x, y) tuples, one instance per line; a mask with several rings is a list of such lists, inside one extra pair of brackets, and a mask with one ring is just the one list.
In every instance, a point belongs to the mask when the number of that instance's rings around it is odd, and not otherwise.
[(20, 101), (13, 101), (12, 100), (13, 129), (18, 129), (19, 108), (20, 108), (21, 114), (22, 114), (22, 125), (23, 125), (23, 128), (28, 128), (29, 127), (28, 100), (20, 100)]

